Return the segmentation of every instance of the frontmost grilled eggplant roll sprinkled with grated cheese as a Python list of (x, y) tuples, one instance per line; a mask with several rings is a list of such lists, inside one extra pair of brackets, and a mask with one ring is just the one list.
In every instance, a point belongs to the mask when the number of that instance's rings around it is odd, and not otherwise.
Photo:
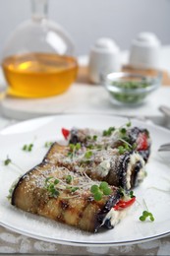
[(85, 173), (41, 162), (17, 182), (11, 203), (28, 213), (97, 232), (101, 226), (114, 227), (126, 213), (125, 209), (114, 209), (123, 198), (114, 186), (108, 186), (109, 193), (95, 200), (91, 186), (100, 184)]

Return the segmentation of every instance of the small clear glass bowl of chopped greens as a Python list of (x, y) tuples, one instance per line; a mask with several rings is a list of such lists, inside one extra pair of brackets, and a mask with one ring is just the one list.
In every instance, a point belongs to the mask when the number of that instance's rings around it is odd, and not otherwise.
[(102, 76), (102, 84), (109, 93), (110, 99), (116, 104), (136, 105), (161, 85), (162, 73), (156, 72), (149, 76), (114, 72)]

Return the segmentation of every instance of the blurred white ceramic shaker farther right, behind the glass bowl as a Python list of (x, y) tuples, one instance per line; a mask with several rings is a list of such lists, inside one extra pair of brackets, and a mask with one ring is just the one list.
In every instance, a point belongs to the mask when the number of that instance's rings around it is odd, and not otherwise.
[(140, 32), (132, 42), (129, 64), (133, 68), (157, 69), (160, 45), (160, 40), (154, 33)]

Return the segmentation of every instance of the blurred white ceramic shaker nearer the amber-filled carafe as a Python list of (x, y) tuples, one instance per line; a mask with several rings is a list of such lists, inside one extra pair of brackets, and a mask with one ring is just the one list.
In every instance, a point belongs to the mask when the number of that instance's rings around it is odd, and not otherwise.
[(89, 52), (88, 75), (90, 82), (99, 84), (101, 76), (120, 71), (120, 49), (114, 40), (107, 37), (97, 39)]

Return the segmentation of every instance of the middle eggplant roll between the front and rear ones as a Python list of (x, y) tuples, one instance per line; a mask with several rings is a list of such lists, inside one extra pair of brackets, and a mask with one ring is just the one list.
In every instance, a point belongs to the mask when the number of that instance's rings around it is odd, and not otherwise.
[(106, 181), (126, 190), (138, 186), (145, 176), (145, 162), (138, 152), (120, 154), (118, 149), (87, 150), (77, 146), (70, 148), (54, 143), (44, 161), (85, 172), (92, 180)]

